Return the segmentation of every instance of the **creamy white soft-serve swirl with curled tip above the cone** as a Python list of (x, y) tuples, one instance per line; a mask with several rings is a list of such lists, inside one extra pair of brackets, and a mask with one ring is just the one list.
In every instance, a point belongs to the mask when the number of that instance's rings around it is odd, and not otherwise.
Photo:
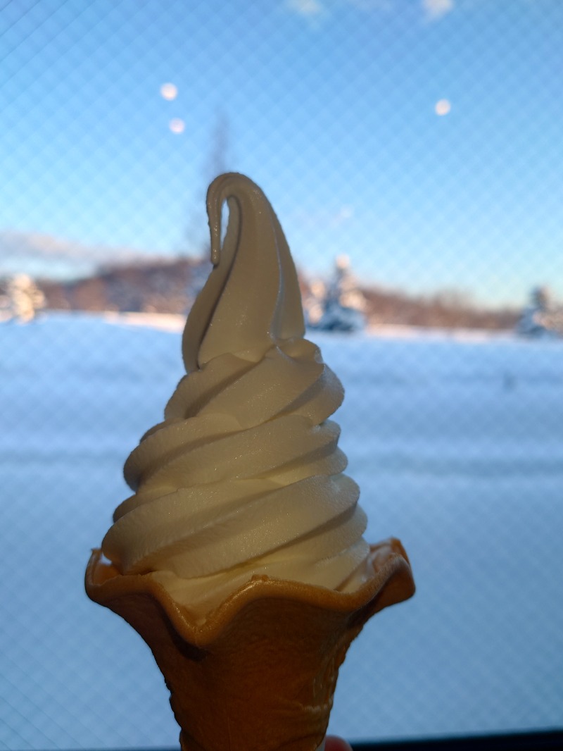
[(125, 463), (134, 495), (102, 550), (200, 617), (254, 575), (355, 590), (366, 515), (328, 419), (343, 389), (303, 338), (288, 243), (245, 176), (215, 179), (207, 210), (214, 269), (185, 326), (188, 375)]

